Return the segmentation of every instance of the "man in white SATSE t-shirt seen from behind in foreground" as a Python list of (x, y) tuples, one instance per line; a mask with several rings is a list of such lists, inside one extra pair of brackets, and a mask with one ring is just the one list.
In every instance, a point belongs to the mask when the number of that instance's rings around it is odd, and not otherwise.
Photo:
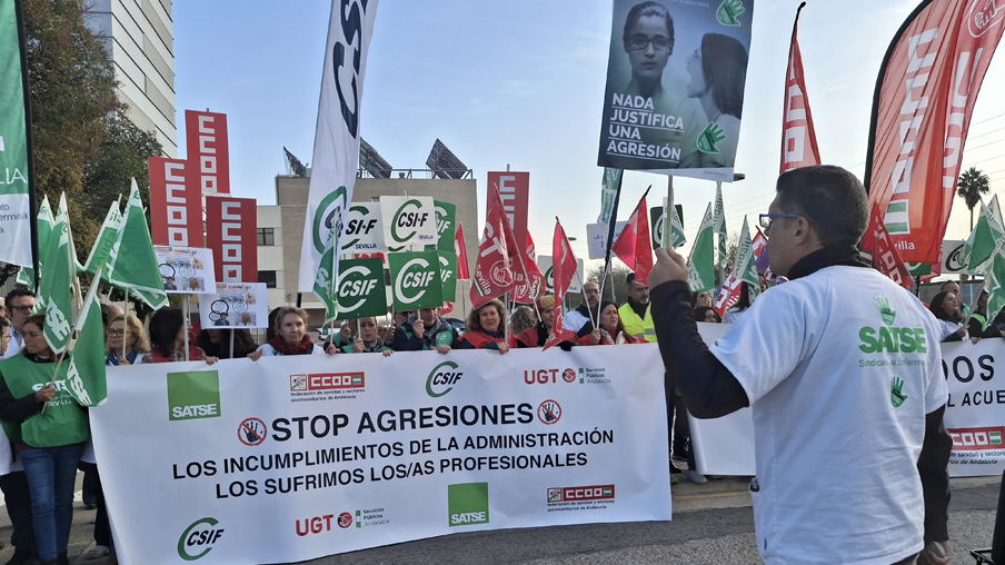
[(752, 407), (765, 563), (944, 565), (952, 439), (936, 320), (859, 262), (868, 214), (855, 176), (804, 167), (776, 189), (762, 221), (772, 270), (790, 281), (710, 348), (688, 316), (684, 258), (657, 250), (649, 285), (667, 378), (696, 417)]

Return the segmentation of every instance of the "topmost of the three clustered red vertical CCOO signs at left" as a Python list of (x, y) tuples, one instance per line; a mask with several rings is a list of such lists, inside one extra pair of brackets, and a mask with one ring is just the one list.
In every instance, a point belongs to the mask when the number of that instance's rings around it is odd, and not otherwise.
[(203, 195), (230, 194), (227, 115), (185, 111), (190, 179)]

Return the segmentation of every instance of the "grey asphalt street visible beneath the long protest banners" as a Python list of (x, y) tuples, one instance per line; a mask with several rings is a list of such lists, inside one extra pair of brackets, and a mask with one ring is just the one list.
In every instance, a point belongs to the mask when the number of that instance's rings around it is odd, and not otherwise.
[[(856, 470), (849, 468), (848, 480)], [(80, 499), (78, 477), (77, 511), (69, 555), (74, 565), (110, 565), (113, 558), (87, 561), (93, 547), (93, 511)], [(954, 478), (949, 505), (949, 535), (953, 564), (973, 564), (969, 551), (991, 546), (998, 500), (998, 477)], [(754, 541), (748, 480), (709, 479), (695, 485), (681, 480), (671, 487), (674, 519), (624, 524), (589, 524), (537, 528), (500, 529), (454, 534), (332, 555), (305, 562), (310, 565), (359, 564), (759, 564)], [(151, 508), (151, 512), (157, 512)], [(10, 521), (0, 513), (0, 564), (12, 554)], [(173, 556), (167, 556), (171, 561)], [(834, 563), (839, 563), (835, 559)], [(132, 564), (127, 564), (132, 565)], [(147, 564), (140, 564), (147, 565)]]

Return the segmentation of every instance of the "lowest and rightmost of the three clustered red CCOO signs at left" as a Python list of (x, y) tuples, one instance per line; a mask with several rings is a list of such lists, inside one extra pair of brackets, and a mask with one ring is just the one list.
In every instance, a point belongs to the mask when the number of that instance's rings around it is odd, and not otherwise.
[(220, 282), (258, 282), (258, 211), (253, 198), (206, 199), (206, 245)]

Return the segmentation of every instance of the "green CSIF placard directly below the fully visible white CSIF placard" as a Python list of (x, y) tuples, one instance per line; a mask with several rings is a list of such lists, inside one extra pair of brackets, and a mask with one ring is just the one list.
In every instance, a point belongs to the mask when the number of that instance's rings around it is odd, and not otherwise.
[(444, 305), (439, 251), (388, 254), (387, 265), (396, 311)]

